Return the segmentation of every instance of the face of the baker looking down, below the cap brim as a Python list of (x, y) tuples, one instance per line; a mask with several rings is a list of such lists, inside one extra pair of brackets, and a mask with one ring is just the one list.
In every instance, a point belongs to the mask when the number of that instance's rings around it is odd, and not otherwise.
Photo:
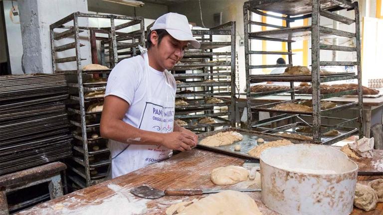
[(156, 44), (153, 45), (157, 52), (158, 65), (164, 69), (171, 70), (184, 56), (188, 41), (180, 41), (171, 35), (166, 35), (162, 38), (160, 44), (158, 44), (157, 40)]

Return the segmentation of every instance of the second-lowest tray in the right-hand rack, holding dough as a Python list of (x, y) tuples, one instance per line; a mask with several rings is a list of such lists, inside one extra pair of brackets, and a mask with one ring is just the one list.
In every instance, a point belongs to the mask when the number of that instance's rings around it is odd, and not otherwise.
[[(266, 105), (253, 106), (253, 107), (251, 107), (251, 109), (254, 111), (264, 111), (264, 112), (278, 112), (278, 113), (310, 114), (310, 115), (312, 115), (313, 112), (270, 109), (270, 108), (272, 108), (278, 104), (293, 104), (293, 103), (297, 103), (300, 101), (306, 101), (306, 100), (305, 99), (288, 100), (288, 101), (270, 103), (270, 104), (266, 104)], [(321, 110), (321, 114), (332, 113), (332, 112), (340, 111), (343, 109), (353, 108), (353, 107), (356, 107), (358, 105), (358, 102), (333, 102), (333, 103), (336, 103), (337, 106), (334, 108), (323, 109), (323, 110)]]

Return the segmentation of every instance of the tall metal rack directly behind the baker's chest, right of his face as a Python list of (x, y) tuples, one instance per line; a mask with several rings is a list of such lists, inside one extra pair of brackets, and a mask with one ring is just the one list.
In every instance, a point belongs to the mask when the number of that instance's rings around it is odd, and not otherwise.
[[(192, 29), (200, 42), (199, 49), (188, 47), (184, 58), (172, 70), (177, 83), (176, 100), (188, 105), (177, 106), (175, 118), (188, 124), (196, 133), (222, 126), (235, 127), (235, 22), (210, 29)], [(229, 96), (220, 103), (208, 104), (206, 99)], [(198, 122), (210, 117), (214, 122)]]

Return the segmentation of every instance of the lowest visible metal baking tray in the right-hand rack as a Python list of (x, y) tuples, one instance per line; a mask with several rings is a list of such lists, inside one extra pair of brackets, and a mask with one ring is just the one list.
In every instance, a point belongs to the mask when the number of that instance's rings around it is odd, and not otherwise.
[[(310, 125), (312, 125), (312, 124), (310, 124)], [(278, 132), (291, 132), (291, 133), (297, 133), (297, 134), (302, 134), (302, 135), (312, 137), (312, 134), (310, 134), (310, 133), (296, 132), (295, 129), (297, 129), (299, 126), (307, 126), (307, 125), (304, 122), (295, 122), (295, 123), (291, 123), (288, 125), (283, 125), (280, 127), (273, 128), (272, 130), (270, 128), (266, 128), (266, 127), (257, 127), (257, 129), (264, 129), (264, 131), (262, 131), (262, 132), (272, 133), (275, 135), (278, 135)], [(322, 127), (325, 128), (327, 126), (322, 126)], [(277, 130), (280, 130), (280, 131), (277, 131)], [(330, 145), (330, 144), (336, 143), (340, 140), (346, 139), (347, 137), (350, 137), (352, 135), (358, 134), (357, 128), (337, 127), (337, 128), (335, 128), (335, 130), (338, 130), (340, 132), (340, 134), (337, 136), (323, 136), (322, 135), (322, 137), (321, 137), (322, 144)]]

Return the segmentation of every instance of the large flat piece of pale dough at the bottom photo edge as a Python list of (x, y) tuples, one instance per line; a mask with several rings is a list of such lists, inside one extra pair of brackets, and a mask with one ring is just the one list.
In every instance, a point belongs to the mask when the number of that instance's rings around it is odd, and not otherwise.
[(178, 215), (262, 215), (253, 199), (238, 191), (211, 194)]

